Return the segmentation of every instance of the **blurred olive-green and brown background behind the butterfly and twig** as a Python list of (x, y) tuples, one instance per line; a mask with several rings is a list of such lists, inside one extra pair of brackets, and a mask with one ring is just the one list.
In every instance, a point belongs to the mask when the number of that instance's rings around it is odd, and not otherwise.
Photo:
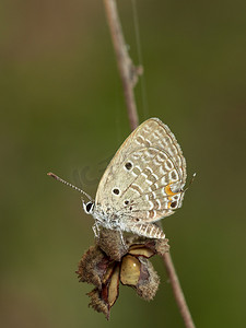
[[(246, 325), (245, 1), (137, 1), (144, 81), (140, 120), (159, 117), (197, 178), (163, 220), (197, 327)], [(119, 12), (138, 63), (131, 1)], [(0, 326), (184, 327), (163, 262), (154, 301), (120, 286), (110, 321), (74, 273), (93, 244), (91, 194), (129, 134), (102, 1), (0, 3)]]

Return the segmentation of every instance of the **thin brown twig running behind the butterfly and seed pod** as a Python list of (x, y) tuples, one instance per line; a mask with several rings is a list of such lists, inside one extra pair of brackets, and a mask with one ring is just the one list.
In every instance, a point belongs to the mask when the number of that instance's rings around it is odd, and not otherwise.
[[(127, 46), (124, 39), (120, 21), (117, 13), (115, 0), (104, 0), (107, 21), (112, 34), (112, 39), (116, 52), (116, 60), (122, 81), (124, 93), (127, 104), (128, 117), (130, 121), (131, 130), (138, 126), (138, 113), (133, 94), (133, 86), (138, 81), (138, 75), (142, 72), (141, 69), (136, 68), (128, 55)], [(177, 273), (175, 271), (172, 257), (169, 253), (163, 256), (163, 260), (166, 267), (167, 274), (173, 288), (174, 296), (181, 317), (184, 319), (186, 328), (195, 328), (189, 308), (187, 306), (180, 283), (178, 281)]]

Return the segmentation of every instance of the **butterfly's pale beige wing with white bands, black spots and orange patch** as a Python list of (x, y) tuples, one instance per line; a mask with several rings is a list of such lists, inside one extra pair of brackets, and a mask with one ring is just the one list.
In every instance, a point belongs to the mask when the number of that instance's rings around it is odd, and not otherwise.
[(171, 215), (181, 206), (186, 161), (169, 128), (157, 118), (140, 125), (107, 166), (95, 204), (124, 215), (126, 225)]

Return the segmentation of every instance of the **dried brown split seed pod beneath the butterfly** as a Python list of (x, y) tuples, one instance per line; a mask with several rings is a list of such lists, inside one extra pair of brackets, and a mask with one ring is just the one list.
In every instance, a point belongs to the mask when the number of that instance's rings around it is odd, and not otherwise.
[(149, 258), (168, 251), (167, 242), (128, 236), (124, 245), (118, 232), (102, 229), (96, 245), (82, 256), (77, 271), (79, 281), (95, 286), (87, 293), (89, 305), (108, 319), (119, 295), (119, 282), (133, 288), (140, 297), (152, 300), (160, 278)]

